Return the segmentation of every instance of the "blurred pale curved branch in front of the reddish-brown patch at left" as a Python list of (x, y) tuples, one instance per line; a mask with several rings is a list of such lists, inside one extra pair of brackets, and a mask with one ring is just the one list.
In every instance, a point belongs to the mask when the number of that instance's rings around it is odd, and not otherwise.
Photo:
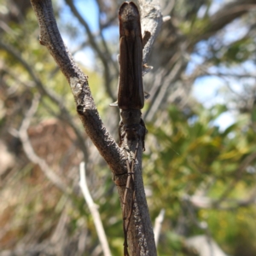
[(67, 185), (58, 177), (53, 170), (47, 165), (45, 160), (41, 159), (32, 148), (32, 144), (30, 143), (29, 137), (27, 135), (27, 129), (30, 125), (32, 116), (37, 112), (38, 102), (40, 96), (36, 95), (32, 101), (31, 108), (27, 111), (25, 119), (23, 119), (22, 124), (20, 126), (20, 131), (18, 132), (20, 141), (26, 153), (26, 156), (32, 163), (40, 166), (44, 175), (49, 178), (49, 180), (57, 187), (61, 189), (62, 192), (69, 194), (70, 190), (67, 188)]

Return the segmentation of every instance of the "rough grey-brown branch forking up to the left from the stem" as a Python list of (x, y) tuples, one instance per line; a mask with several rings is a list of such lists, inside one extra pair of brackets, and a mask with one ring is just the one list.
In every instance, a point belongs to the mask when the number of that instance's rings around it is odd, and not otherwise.
[[(124, 154), (102, 124), (102, 119), (99, 117), (95, 102), (91, 96), (87, 76), (73, 61), (72, 55), (70, 55), (66, 45), (63, 43), (55, 21), (51, 1), (32, 0), (32, 7), (38, 17), (40, 26), (40, 44), (47, 47), (49, 53), (60, 67), (61, 72), (67, 78), (73, 91), (77, 111), (84, 125), (84, 130), (96, 145), (100, 154), (108, 162), (113, 173), (125, 173)], [(119, 182), (119, 177), (116, 178), (116, 182)], [(124, 178), (123, 182), (125, 183), (125, 177), (121, 178)]]

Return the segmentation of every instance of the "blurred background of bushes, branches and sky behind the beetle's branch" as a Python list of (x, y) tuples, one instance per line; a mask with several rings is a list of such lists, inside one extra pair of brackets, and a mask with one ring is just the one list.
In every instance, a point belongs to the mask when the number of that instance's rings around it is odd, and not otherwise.
[[(109, 103), (117, 96), (122, 2), (53, 1), (61, 36), (116, 141), (119, 111)], [(143, 178), (153, 224), (166, 212), (159, 255), (256, 255), (256, 1), (160, 5), (172, 18), (143, 79), (151, 95)], [(0, 255), (102, 255), (79, 189), (82, 160), (111, 251), (121, 255), (111, 172), (38, 35), (29, 0), (0, 0)]]

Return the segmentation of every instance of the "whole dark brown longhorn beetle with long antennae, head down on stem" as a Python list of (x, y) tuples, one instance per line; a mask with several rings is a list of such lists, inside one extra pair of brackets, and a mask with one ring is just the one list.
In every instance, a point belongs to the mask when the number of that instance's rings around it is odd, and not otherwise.
[[(143, 41), (141, 32), (140, 14), (135, 3), (123, 3), (119, 9), (119, 88), (118, 101), (111, 106), (120, 109), (121, 121), (119, 123), (120, 146), (123, 146), (127, 166), (127, 181), (123, 199), (123, 230), (125, 235), (124, 254), (129, 256), (127, 234), (131, 221), (134, 190), (134, 165), (137, 157), (139, 142), (144, 139), (147, 132), (142, 119), (141, 109), (144, 107), (144, 97), (149, 95), (143, 90), (143, 73), (147, 73), (151, 67), (143, 66), (143, 46), (150, 38), (150, 33), (145, 33)], [(137, 145), (131, 156), (131, 164), (128, 160), (127, 148), (123, 145), (124, 139), (136, 140)], [(126, 145), (127, 146), (127, 145)], [(129, 150), (129, 148), (128, 148)], [(131, 201), (127, 205), (128, 194), (132, 193)], [(130, 207), (128, 207), (130, 205)]]

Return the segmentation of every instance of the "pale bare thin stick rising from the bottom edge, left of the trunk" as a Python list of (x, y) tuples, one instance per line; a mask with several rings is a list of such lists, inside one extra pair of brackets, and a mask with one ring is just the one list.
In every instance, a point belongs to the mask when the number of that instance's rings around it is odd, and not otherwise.
[(79, 171), (80, 171), (79, 186), (80, 186), (80, 188), (82, 190), (82, 193), (84, 195), (84, 199), (85, 199), (85, 201), (86, 201), (86, 203), (87, 203), (87, 205), (90, 209), (90, 213), (91, 213), (91, 216), (93, 218), (93, 222), (94, 222), (95, 227), (96, 227), (96, 232), (97, 232), (99, 240), (102, 244), (102, 251), (103, 251), (105, 256), (111, 256), (110, 249), (109, 249), (109, 246), (108, 246), (107, 236), (105, 234), (105, 230), (104, 230), (103, 225), (102, 225), (102, 219), (101, 219), (100, 213), (98, 212), (98, 206), (92, 200), (92, 198), (90, 196), (90, 191), (87, 187), (84, 162), (80, 163)]

